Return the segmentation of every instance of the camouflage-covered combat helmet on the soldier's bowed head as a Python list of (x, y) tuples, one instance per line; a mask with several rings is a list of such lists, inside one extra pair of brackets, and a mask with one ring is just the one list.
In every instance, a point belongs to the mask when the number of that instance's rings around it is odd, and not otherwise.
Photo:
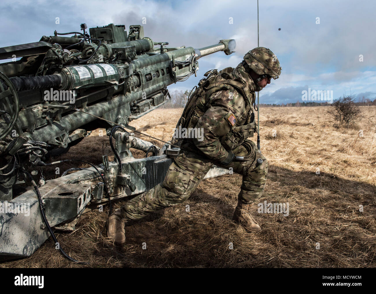
[(281, 72), (281, 66), (279, 60), (270, 49), (265, 47), (257, 47), (248, 51), (244, 55), (244, 61), (247, 65), (259, 75), (270, 75), (272, 78), (279, 78)]

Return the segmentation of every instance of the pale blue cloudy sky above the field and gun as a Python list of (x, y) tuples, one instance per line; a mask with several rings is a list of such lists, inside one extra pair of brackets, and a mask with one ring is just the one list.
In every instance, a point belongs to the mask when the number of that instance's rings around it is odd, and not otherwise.
[[(280, 78), (260, 92), (260, 102), (302, 101), (308, 88), (333, 90), (334, 98), (351, 92), (376, 99), (375, 11), (375, 1), (260, 1), (260, 46), (270, 48), (282, 66)], [(55, 24), (56, 17), (60, 24)], [(203, 57), (198, 77), (170, 90), (191, 89), (209, 69), (235, 67), (257, 47), (257, 2), (236, 0), (2, 0), (0, 47), (36, 42), (54, 30), (80, 31), (81, 23), (129, 27), (141, 24), (143, 17), (145, 36), (171, 47), (200, 48), (220, 39), (237, 42), (235, 53)]]

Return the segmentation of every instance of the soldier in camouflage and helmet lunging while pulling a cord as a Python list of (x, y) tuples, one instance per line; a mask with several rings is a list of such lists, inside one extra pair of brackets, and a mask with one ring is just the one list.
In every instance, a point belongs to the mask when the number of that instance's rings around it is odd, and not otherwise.
[(247, 232), (260, 231), (251, 206), (264, 190), (268, 162), (247, 138), (257, 130), (255, 92), (270, 84), (271, 78), (278, 78), (280, 71), (273, 52), (257, 47), (235, 69), (206, 72), (207, 78), (199, 82), (177, 125), (202, 130), (204, 139), (173, 139), (182, 153), (174, 159), (164, 181), (112, 213), (107, 221), (108, 237), (123, 244), (126, 220), (141, 219), (188, 199), (213, 164), (243, 175), (233, 220)]

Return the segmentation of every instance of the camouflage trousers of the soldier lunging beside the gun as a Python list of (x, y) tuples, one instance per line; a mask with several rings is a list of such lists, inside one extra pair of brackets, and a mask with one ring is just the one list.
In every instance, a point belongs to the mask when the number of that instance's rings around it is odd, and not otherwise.
[[(261, 197), (264, 190), (268, 161), (258, 151), (255, 143), (250, 140), (232, 152), (237, 156), (248, 155), (247, 161), (233, 161), (226, 166), (217, 165), (243, 175), (243, 183), (238, 197), (243, 204), (251, 204)], [(256, 164), (258, 158), (263, 160), (260, 165)], [(183, 151), (175, 158), (161, 184), (136, 196), (121, 207), (122, 217), (124, 219), (141, 219), (153, 211), (172, 207), (185, 201), (191, 196), (213, 164), (208, 158)]]

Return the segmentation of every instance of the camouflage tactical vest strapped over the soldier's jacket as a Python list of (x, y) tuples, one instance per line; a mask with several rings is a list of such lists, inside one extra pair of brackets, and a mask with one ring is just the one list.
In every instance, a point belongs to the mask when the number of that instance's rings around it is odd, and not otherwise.
[[(256, 132), (255, 113), (253, 112), (252, 104), (255, 103), (256, 95), (250, 92), (246, 83), (235, 81), (232, 75), (233, 68), (227, 67), (220, 72), (217, 69), (206, 72), (203, 78), (199, 81), (199, 86), (188, 99), (176, 128), (194, 128), (197, 121), (203, 116), (206, 110), (209, 109), (212, 100), (212, 94), (221, 90), (235, 89), (243, 96), (246, 101), (246, 112), (250, 113), (247, 116), (245, 124), (241, 126), (232, 127), (229, 133), (220, 137), (220, 142), (228, 151), (235, 149), (241, 145), (248, 137), (253, 137)], [(173, 138), (172, 143), (180, 146), (181, 138)]]

